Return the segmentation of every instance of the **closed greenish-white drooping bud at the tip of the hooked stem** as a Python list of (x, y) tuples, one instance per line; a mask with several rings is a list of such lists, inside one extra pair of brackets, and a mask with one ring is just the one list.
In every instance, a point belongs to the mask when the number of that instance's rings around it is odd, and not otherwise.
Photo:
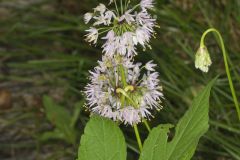
[(212, 61), (208, 49), (205, 46), (200, 46), (195, 56), (195, 67), (203, 72), (208, 72)]

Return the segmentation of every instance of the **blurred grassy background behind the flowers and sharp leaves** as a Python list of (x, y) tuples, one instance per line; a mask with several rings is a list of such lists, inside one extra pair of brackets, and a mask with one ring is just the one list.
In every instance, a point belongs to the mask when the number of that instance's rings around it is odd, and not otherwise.
[[(0, 159), (73, 160), (89, 113), (81, 91), (88, 70), (101, 58), (100, 46), (84, 41), (83, 14), (106, 0), (0, 1)], [(175, 124), (193, 97), (220, 75), (210, 101), (208, 133), (195, 160), (239, 160), (240, 123), (231, 98), (218, 41), (206, 44), (213, 65), (208, 74), (194, 68), (201, 34), (217, 28), (224, 38), (237, 96), (240, 97), (240, 0), (156, 0), (161, 28), (152, 50), (139, 50), (137, 61), (158, 64), (164, 109), (152, 127)], [(138, 157), (131, 127), (121, 126), (128, 159)], [(141, 126), (141, 136), (147, 130)], [(173, 135), (170, 135), (173, 136)]]

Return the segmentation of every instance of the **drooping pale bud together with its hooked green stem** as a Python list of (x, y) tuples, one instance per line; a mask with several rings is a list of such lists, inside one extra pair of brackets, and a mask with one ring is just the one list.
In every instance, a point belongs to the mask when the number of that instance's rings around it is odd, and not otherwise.
[(234, 86), (233, 86), (231, 73), (230, 73), (230, 70), (229, 70), (227, 52), (226, 52), (226, 49), (225, 49), (223, 38), (222, 38), (221, 34), (219, 33), (219, 31), (216, 30), (215, 28), (210, 28), (203, 33), (203, 35), (201, 37), (200, 48), (198, 49), (198, 51), (196, 53), (196, 57), (195, 57), (196, 58), (195, 59), (195, 67), (202, 70), (203, 72), (208, 72), (209, 67), (212, 64), (208, 49), (204, 44), (205, 37), (210, 32), (216, 33), (217, 37), (220, 41), (220, 46), (221, 46), (222, 53), (223, 53), (223, 59), (224, 59), (224, 64), (225, 64), (225, 69), (226, 69), (226, 73), (227, 73), (227, 77), (228, 77), (230, 90), (231, 90), (231, 93), (232, 93), (232, 97), (233, 97), (234, 105), (236, 107), (238, 118), (240, 120), (240, 108), (239, 108), (239, 103), (238, 103), (237, 96), (236, 96), (236, 91), (235, 91)]

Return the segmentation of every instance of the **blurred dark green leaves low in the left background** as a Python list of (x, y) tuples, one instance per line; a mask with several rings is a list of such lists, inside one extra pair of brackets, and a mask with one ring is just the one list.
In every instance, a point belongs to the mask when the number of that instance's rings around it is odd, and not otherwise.
[(54, 103), (48, 96), (43, 97), (43, 104), (48, 120), (55, 125), (56, 128), (54, 131), (45, 132), (41, 139), (59, 138), (74, 144), (76, 142), (76, 131), (74, 129), (75, 116), (72, 118), (67, 109)]

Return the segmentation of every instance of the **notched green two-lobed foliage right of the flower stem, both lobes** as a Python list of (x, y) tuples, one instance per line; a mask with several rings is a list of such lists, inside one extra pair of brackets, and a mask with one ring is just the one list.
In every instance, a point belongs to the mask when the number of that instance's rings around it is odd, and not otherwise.
[(150, 132), (144, 142), (140, 160), (190, 160), (192, 158), (200, 137), (209, 127), (209, 96), (214, 82), (215, 79), (194, 99), (192, 106), (178, 122), (171, 142), (167, 142), (169, 125), (159, 125)]

